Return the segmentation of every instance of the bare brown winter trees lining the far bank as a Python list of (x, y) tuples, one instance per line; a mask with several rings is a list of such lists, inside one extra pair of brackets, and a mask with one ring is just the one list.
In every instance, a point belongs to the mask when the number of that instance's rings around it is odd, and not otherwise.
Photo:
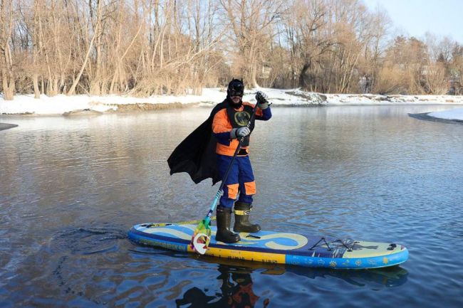
[(247, 86), (460, 94), (463, 46), (393, 36), (361, 0), (0, 0), (0, 92), (199, 94)]

